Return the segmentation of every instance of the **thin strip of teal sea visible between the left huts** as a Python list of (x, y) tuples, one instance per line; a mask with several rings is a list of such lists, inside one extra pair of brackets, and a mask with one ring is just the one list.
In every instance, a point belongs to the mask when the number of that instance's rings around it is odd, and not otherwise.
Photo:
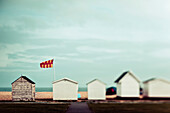
[[(11, 87), (0, 87), (0, 92), (11, 92), (12, 88)], [(52, 92), (53, 88), (52, 87), (36, 87), (35, 88), (36, 92)], [(78, 91), (85, 92), (87, 91), (86, 87), (79, 87)]]

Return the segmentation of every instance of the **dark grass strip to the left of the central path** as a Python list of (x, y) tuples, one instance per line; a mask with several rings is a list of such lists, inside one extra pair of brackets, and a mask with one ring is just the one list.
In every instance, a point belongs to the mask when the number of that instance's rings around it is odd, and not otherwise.
[(0, 113), (65, 113), (69, 104), (0, 104)]

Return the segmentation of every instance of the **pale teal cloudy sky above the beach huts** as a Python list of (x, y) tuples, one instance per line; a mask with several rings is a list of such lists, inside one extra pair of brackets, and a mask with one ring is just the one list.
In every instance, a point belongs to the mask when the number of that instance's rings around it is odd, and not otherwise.
[[(170, 80), (169, 0), (0, 0), (0, 87), (67, 77), (107, 87), (124, 72)], [(55, 59), (55, 67), (40, 63)]]

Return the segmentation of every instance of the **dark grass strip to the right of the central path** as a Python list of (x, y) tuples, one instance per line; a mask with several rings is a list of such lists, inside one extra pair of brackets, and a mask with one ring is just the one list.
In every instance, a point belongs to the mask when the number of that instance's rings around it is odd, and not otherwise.
[(170, 103), (89, 103), (94, 113), (170, 113)]

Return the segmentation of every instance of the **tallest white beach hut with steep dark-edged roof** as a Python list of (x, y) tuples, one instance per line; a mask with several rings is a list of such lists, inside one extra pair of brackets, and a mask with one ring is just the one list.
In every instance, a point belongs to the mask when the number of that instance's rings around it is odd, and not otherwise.
[(115, 83), (117, 83), (118, 97), (140, 96), (140, 81), (132, 72), (124, 72)]

